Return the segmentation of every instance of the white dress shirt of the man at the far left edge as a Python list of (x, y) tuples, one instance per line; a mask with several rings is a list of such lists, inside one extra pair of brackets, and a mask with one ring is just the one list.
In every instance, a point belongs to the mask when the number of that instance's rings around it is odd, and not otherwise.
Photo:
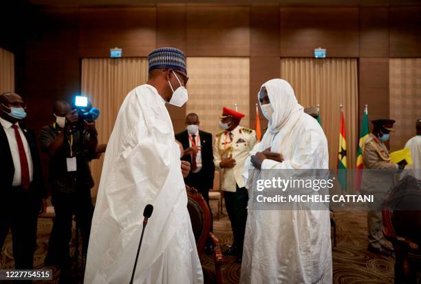
[[(6, 136), (8, 137), (8, 141), (9, 141), (10, 152), (12, 153), (12, 160), (13, 160), (13, 165), (14, 165), (14, 176), (13, 176), (12, 186), (19, 186), (21, 185), (21, 179), (22, 179), (21, 160), (19, 157), (19, 148), (17, 145), (16, 136), (14, 134), (14, 129), (12, 128), (12, 123), (10, 123), (9, 121), (6, 121), (5, 119), (2, 119), (1, 117), (0, 117), (0, 123), (3, 126), (4, 132), (6, 132)], [(28, 144), (28, 141), (26, 140), (25, 134), (23, 134), (22, 129), (19, 127), (19, 123), (15, 123), (15, 124), (18, 127), (19, 134), (21, 134), (23, 148), (25, 149), (26, 157), (28, 159), (30, 181), (32, 182), (34, 167), (32, 165), (32, 157), (31, 157), (29, 144)]]

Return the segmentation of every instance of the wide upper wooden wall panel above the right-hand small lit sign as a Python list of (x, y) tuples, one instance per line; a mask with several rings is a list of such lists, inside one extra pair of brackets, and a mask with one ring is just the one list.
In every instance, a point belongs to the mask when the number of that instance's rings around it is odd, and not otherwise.
[(358, 8), (281, 8), (281, 57), (358, 57)]

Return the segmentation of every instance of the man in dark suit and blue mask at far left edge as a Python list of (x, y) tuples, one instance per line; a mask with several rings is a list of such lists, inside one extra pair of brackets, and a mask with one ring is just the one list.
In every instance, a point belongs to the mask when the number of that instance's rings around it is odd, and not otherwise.
[(19, 124), (25, 116), (19, 94), (0, 94), (0, 250), (12, 230), (15, 267), (31, 270), (36, 221), (45, 213), (47, 191), (35, 136)]

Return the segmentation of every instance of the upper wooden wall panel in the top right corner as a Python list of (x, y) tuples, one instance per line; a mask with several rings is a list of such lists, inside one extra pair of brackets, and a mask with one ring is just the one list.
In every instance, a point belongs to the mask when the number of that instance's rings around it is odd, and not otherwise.
[(390, 57), (421, 57), (421, 6), (390, 8)]

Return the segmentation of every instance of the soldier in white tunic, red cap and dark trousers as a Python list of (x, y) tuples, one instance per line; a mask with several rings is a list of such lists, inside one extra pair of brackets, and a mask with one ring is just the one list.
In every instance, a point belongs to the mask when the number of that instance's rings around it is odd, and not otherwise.
[(215, 136), (213, 143), (215, 168), (220, 173), (226, 211), (234, 234), (234, 243), (225, 254), (237, 256), (239, 263), (243, 252), (248, 203), (248, 192), (241, 174), (248, 152), (257, 142), (255, 130), (239, 125), (243, 117), (244, 114), (224, 108), (219, 121), (224, 131)]

